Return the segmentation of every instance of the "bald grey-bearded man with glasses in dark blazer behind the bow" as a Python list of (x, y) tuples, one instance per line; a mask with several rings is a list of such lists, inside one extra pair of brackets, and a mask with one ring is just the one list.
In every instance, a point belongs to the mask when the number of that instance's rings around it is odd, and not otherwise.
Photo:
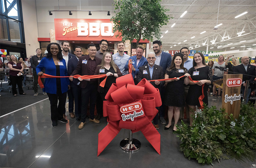
[[(163, 68), (159, 65), (155, 64), (156, 57), (155, 53), (148, 53), (147, 56), (148, 64), (140, 67), (139, 74), (137, 76), (137, 82), (139, 83), (143, 78), (146, 80), (157, 80), (157, 79), (164, 79), (164, 72)], [(150, 82), (155, 88), (160, 88), (160, 86), (163, 84), (163, 81), (154, 81)], [(158, 113), (156, 114), (154, 118), (154, 126), (156, 129), (159, 129), (158, 125)]]

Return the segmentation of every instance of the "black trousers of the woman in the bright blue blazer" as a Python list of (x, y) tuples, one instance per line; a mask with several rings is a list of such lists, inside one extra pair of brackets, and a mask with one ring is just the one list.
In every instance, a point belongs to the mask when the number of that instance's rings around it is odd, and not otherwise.
[[(61, 88), (57, 88), (57, 94), (47, 93), (51, 104), (51, 119), (52, 122), (57, 122), (63, 118), (66, 112), (65, 104), (67, 99), (67, 92), (61, 93)], [(59, 100), (59, 104), (58, 104)]]

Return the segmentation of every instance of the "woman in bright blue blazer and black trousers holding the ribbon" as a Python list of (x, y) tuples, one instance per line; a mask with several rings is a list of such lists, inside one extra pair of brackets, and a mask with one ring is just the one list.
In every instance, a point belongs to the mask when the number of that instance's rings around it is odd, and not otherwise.
[[(61, 48), (58, 43), (50, 43), (47, 46), (47, 55), (36, 67), (36, 73), (43, 75), (42, 69), (45, 68), (45, 74), (52, 76), (68, 76), (66, 61), (62, 58)], [(65, 103), (67, 91), (70, 89), (68, 78), (45, 78), (44, 91), (47, 93), (51, 103), (52, 127), (57, 126), (57, 122), (67, 123), (63, 118), (66, 111)], [(59, 99), (59, 105), (58, 104)]]

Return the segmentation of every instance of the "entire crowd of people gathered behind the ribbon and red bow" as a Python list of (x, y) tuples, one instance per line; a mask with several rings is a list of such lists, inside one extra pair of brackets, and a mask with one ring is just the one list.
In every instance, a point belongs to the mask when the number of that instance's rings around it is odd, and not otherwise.
[[(162, 51), (162, 43), (159, 40), (153, 42), (154, 53), (148, 53), (146, 58), (143, 56), (144, 46), (136, 47), (136, 55), (129, 56), (124, 53), (124, 42), (116, 43), (117, 53), (111, 54), (107, 52), (108, 41), (102, 39), (100, 41), (100, 50), (97, 51), (96, 46), (92, 43), (87, 46), (88, 55), (83, 55), (83, 49), (80, 46), (74, 48), (74, 53), (69, 53), (70, 43), (62, 41), (58, 43), (50, 43), (47, 46), (45, 55), (42, 56), (40, 48), (36, 49), (36, 55), (30, 56), (30, 62), (33, 68), (34, 77), (34, 96), (38, 95), (38, 75), (48, 74), (52, 76), (70, 76), (69, 78), (41, 78), (44, 84), (43, 94), (47, 94), (51, 104), (51, 120), (52, 127), (56, 127), (58, 122), (67, 123), (66, 120), (66, 99), (68, 95), (68, 111), (70, 118), (76, 118), (81, 121), (78, 129), (83, 129), (86, 118), (89, 117), (90, 122), (100, 123), (103, 116), (103, 101), (116, 78), (127, 75), (129, 63), (131, 65), (132, 77), (134, 84), (137, 85), (142, 79), (156, 80), (150, 82), (155, 88), (158, 88), (161, 94), (162, 106), (157, 107), (159, 113), (153, 119), (153, 125), (159, 129), (158, 119), (162, 124), (166, 124), (164, 130), (168, 130), (172, 126), (172, 118), (174, 116), (173, 131), (177, 130), (176, 124), (184, 120), (184, 110), (186, 109), (187, 121), (192, 126), (193, 115), (196, 106), (200, 107), (198, 98), (202, 95), (202, 85), (204, 95), (207, 95), (208, 86), (211, 86), (211, 97), (215, 96), (216, 86), (213, 81), (223, 78), (224, 73), (241, 73), (243, 75), (243, 85), (241, 92), (244, 94), (246, 83), (244, 81), (253, 81), (256, 75), (256, 67), (248, 65), (249, 58), (243, 57), (242, 64), (239, 65), (238, 58), (229, 55), (227, 60), (223, 55), (218, 57), (218, 62), (212, 60), (206, 64), (202, 53), (195, 53), (193, 59), (189, 58), (189, 49), (183, 47), (179, 53), (172, 55)], [(229, 62), (232, 58), (232, 63)], [(12, 83), (12, 94), (17, 96), (16, 84), (18, 85), (19, 94), (25, 94), (22, 89), (22, 74), (26, 64), (20, 57), (17, 59), (14, 55), (7, 55), (4, 65), (10, 68), (10, 81)], [(129, 61), (131, 60), (131, 61)], [(221, 68), (227, 69), (225, 72)], [(99, 75), (106, 74), (108, 77), (104, 87), (100, 83), (105, 78), (99, 79), (82, 79), (73, 78), (74, 75)], [(248, 76), (252, 75), (252, 76)], [(184, 77), (183, 77), (184, 76)], [(170, 79), (166, 81), (157, 81), (158, 79)], [(190, 81), (191, 78), (193, 82)], [(24, 83), (26, 84), (26, 83)], [(251, 90), (249, 86), (248, 93)], [(221, 98), (221, 89), (218, 89), (217, 96)], [(249, 94), (247, 94), (246, 102), (248, 102)], [(58, 103), (59, 101), (59, 103)], [(74, 103), (75, 102), (75, 105)], [(204, 96), (203, 102), (208, 104), (208, 97)], [(87, 107), (90, 106), (90, 115), (87, 116)], [(97, 108), (97, 116), (94, 116), (95, 105)], [(165, 106), (168, 106), (168, 123), (165, 120)], [(73, 113), (75, 109), (75, 114)]]

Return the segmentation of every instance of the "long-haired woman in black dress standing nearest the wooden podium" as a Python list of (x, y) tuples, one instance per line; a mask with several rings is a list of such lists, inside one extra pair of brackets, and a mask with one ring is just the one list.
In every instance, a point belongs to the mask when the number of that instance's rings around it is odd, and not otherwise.
[(202, 95), (202, 85), (204, 85), (204, 99), (203, 102), (208, 104), (207, 90), (208, 85), (212, 84), (212, 68), (207, 66), (202, 53), (195, 53), (193, 59), (193, 67), (188, 70), (188, 74), (191, 75), (193, 81), (189, 81), (190, 87), (188, 89), (188, 95), (186, 97), (186, 103), (189, 109), (189, 126), (192, 126), (193, 118), (191, 115), (195, 114), (196, 106), (200, 107), (198, 98)]

